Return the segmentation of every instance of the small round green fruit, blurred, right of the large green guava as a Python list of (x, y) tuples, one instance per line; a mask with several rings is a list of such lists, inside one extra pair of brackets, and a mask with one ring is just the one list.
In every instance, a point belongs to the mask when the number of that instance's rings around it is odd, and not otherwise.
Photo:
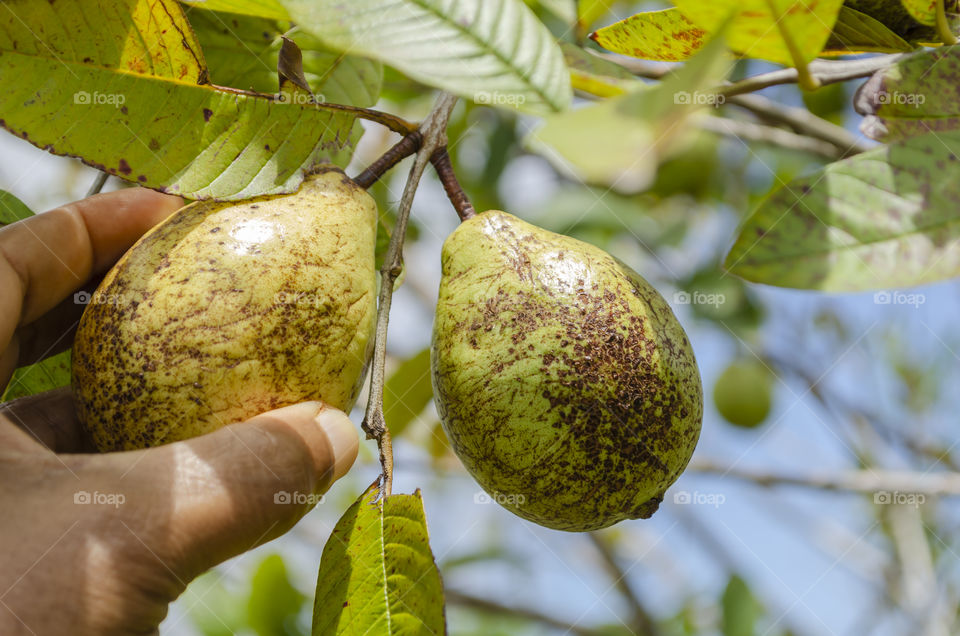
[(770, 414), (773, 374), (756, 359), (743, 358), (728, 366), (713, 385), (717, 411), (734, 426), (755, 428)]

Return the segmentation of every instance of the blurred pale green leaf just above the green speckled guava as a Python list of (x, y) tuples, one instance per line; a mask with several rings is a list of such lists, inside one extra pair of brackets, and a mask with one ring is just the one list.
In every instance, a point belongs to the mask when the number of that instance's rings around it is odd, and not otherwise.
[(620, 192), (646, 188), (659, 159), (689, 132), (684, 120), (722, 99), (700, 89), (716, 86), (730, 68), (722, 38), (662, 82), (546, 118), (527, 145), (558, 169)]

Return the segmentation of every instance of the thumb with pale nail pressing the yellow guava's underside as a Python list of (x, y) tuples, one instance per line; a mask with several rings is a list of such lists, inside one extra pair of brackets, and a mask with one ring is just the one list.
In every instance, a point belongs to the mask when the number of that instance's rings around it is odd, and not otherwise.
[[(165, 489), (154, 502), (171, 499), (168, 532), (151, 536), (169, 542), (159, 553), (189, 580), (292, 528), (353, 465), (358, 443), (346, 414), (304, 402), (143, 451), (124, 481)], [(172, 484), (157, 483), (164, 473)]]

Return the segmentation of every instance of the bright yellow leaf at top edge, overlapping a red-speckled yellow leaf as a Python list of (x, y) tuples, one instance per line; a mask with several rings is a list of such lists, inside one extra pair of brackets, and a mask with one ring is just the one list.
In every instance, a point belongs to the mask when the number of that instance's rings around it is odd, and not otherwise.
[(674, 4), (708, 33), (715, 33), (732, 16), (726, 31), (731, 49), (793, 66), (820, 54), (843, 0), (674, 0)]

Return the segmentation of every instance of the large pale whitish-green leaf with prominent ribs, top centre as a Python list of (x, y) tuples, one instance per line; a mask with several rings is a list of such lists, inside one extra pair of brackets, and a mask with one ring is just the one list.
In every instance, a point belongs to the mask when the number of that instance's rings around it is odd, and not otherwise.
[(381, 60), (478, 103), (563, 110), (563, 56), (520, 0), (281, 0), (302, 29), (338, 51)]

